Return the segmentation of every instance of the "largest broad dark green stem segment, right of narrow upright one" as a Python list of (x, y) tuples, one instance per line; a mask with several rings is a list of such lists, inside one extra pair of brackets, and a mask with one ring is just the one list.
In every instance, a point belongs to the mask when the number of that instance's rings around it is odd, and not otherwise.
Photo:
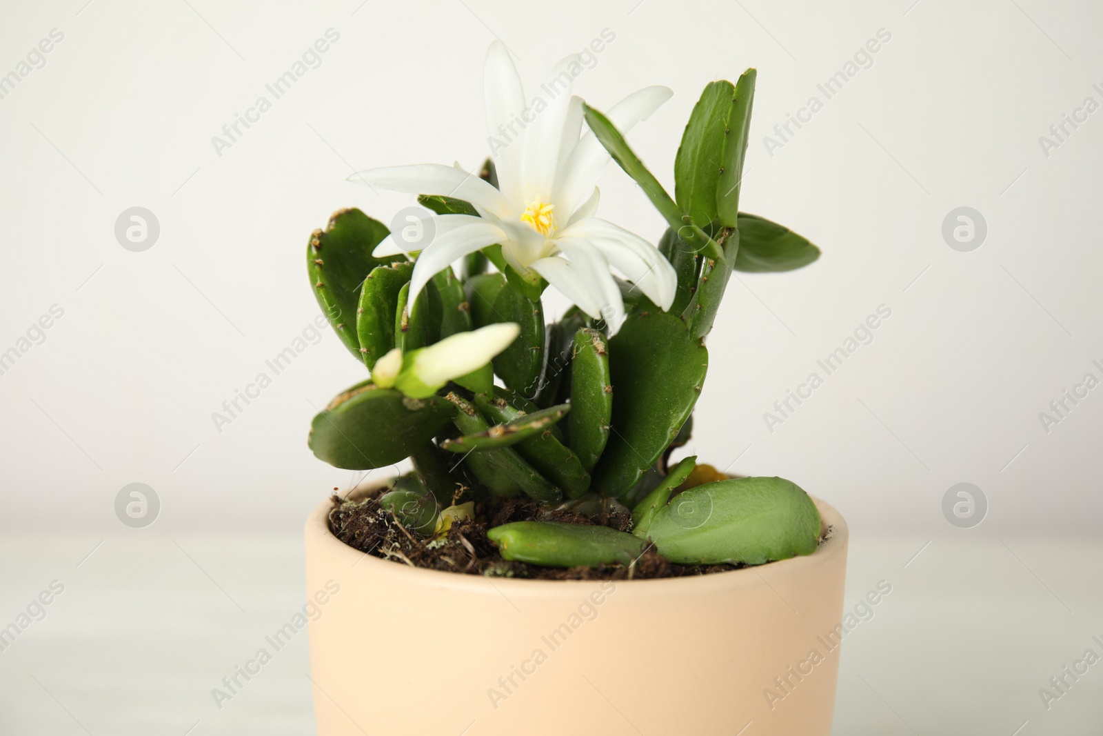
[(593, 490), (621, 497), (663, 455), (689, 418), (708, 371), (708, 350), (677, 317), (634, 314), (609, 341), (617, 401)]

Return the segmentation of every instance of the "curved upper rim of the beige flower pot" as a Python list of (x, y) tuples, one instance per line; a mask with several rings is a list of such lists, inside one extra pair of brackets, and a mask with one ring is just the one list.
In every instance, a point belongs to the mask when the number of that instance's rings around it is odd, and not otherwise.
[[(533, 580), (526, 578), (510, 577), (485, 577), (483, 575), (465, 575), (461, 573), (448, 573), (445, 570), (429, 569), (425, 567), (414, 567), (410, 565), (396, 563), (390, 559), (376, 557), (366, 552), (361, 552), (351, 547), (330, 531), (329, 514), (333, 508), (330, 499), (325, 499), (318, 504), (307, 518), (307, 542), (308, 550), (311, 546), (324, 548), (334, 564), (346, 563), (349, 567), (356, 565), (370, 565), (373, 575), (388, 577), (408, 577), (410, 585), (430, 585), (442, 587), (457, 593), (470, 593), (479, 595), (505, 595), (503, 590), (508, 590), (511, 595), (518, 595), (526, 598), (561, 598), (564, 594), (578, 596), (585, 589), (592, 590), (595, 585), (604, 582), (614, 583), (618, 588), (622, 585), (630, 586), (636, 594), (647, 594), (654, 596), (665, 595), (690, 595), (707, 594), (714, 589), (730, 589), (732, 587), (758, 586), (763, 583), (769, 585), (762, 576), (763, 572), (773, 576), (796, 574), (802, 568), (812, 566), (824, 566), (835, 563), (840, 555), (846, 556), (847, 543), (849, 541), (849, 530), (846, 520), (827, 502), (812, 497), (816, 508), (820, 510), (823, 524), (829, 530), (827, 537), (820, 543), (820, 546), (811, 555), (799, 555), (789, 559), (767, 563), (764, 565), (753, 565), (726, 573), (713, 573), (709, 575), (695, 575), (685, 577), (661, 577), (647, 579), (618, 579), (610, 578), (596, 580)], [(311, 544), (313, 543), (313, 545)], [(845, 562), (844, 562), (845, 564)], [(490, 582), (492, 585), (488, 586)], [(585, 594), (582, 594), (585, 595)]]

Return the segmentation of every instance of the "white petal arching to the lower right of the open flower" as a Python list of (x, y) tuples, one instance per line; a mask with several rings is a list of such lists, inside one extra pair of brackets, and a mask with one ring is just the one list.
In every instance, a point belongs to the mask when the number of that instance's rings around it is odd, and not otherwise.
[(599, 217), (588, 217), (564, 228), (560, 239), (581, 238), (593, 244), (617, 270), (635, 284), (663, 310), (671, 308), (677, 290), (677, 274), (651, 243), (635, 233)]

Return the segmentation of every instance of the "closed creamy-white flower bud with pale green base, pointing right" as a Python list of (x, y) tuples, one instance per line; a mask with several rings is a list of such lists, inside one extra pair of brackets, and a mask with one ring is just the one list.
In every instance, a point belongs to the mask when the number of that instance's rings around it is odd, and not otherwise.
[(449, 381), (490, 363), (520, 333), (516, 322), (499, 322), (470, 332), (457, 332), (405, 355), (395, 348), (375, 362), (372, 382), (381, 388), (394, 386), (411, 398), (428, 398)]

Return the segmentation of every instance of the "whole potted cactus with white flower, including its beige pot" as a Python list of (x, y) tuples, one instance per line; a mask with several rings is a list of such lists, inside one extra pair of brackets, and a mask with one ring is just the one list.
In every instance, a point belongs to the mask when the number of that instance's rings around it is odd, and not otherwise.
[[(671, 92), (602, 114), (571, 96), (580, 70), (528, 102), (492, 45), (483, 170), (362, 172), (435, 214), (389, 233), (343, 210), (310, 237), (370, 374), (310, 447), (413, 461), (308, 520), (322, 736), (829, 733), (844, 521), (791, 481), (671, 461), (732, 270), (820, 254), (739, 211), (756, 72), (705, 87), (672, 198), (623, 138)], [(657, 246), (595, 216), (610, 158), (668, 223)], [(549, 285), (574, 303), (554, 321)]]

